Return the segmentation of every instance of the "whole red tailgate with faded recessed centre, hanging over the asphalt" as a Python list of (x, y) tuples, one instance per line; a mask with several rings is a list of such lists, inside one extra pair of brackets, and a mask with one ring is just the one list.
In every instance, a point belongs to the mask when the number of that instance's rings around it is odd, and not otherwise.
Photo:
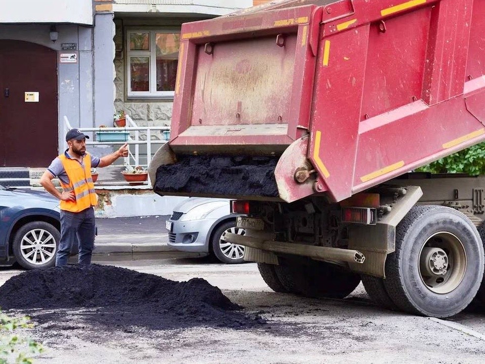
[(280, 154), (300, 138), (320, 19), (306, 6), (184, 24), (173, 150), (255, 154), (263, 146), (258, 153)]

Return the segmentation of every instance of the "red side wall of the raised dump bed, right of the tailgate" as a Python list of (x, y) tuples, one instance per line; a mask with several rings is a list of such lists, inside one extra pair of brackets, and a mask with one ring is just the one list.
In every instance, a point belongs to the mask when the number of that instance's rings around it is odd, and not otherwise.
[[(335, 201), (485, 139), (479, 121), (483, 77), (463, 82), (470, 25), (479, 34), (485, 30), (481, 23), (471, 24), (473, 1), (389, 8), (385, 1), (367, 8), (360, 1), (353, 4), (352, 15), (324, 25), (322, 62), (333, 69), (326, 74), (317, 68), (313, 103), (309, 158)], [(380, 18), (374, 7), (381, 8)], [(360, 39), (369, 19), (368, 47), (335, 41), (339, 35)], [(341, 72), (332, 64), (335, 54), (349, 48), (365, 54), (365, 74), (358, 74), (358, 65)], [(352, 85), (350, 77), (355, 77)], [(357, 92), (361, 82), (362, 96)], [(318, 87), (325, 83), (323, 92)]]

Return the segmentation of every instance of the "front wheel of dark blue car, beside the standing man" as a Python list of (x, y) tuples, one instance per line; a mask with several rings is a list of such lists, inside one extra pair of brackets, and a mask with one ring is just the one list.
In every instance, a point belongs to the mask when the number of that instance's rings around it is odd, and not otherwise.
[(53, 267), (60, 239), (61, 233), (54, 225), (44, 221), (28, 222), (14, 236), (15, 259), (26, 269)]

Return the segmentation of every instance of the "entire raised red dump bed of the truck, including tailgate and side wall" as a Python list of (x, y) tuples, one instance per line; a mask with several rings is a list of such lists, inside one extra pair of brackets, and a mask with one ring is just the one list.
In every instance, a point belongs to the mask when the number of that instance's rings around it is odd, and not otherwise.
[[(397, 3), (282, 1), (184, 24), (174, 155), (275, 156), (280, 199), (341, 201), (484, 140), (485, 5)], [(156, 191), (176, 194), (160, 164)], [(228, 197), (259, 197), (232, 182)], [(205, 188), (180, 194), (221, 195)]]

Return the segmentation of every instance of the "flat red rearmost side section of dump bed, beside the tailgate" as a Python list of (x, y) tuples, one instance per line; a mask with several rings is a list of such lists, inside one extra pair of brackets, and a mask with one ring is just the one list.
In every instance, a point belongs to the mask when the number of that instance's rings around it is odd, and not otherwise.
[(317, 57), (308, 158), (335, 200), (352, 194), (369, 26), (324, 38)]

